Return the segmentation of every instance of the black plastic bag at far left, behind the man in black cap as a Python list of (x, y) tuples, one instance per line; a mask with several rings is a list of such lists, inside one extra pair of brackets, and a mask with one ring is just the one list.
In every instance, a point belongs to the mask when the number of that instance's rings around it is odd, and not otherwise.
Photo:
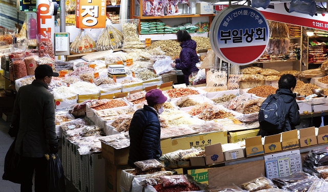
[(22, 183), (21, 156), (15, 152), (15, 143), (16, 139), (12, 142), (6, 154), (2, 179), (20, 184)]

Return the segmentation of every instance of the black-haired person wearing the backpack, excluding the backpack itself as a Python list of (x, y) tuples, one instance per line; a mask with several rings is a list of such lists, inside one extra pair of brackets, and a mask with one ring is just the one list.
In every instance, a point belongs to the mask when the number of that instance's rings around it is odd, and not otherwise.
[[(293, 93), (296, 87), (296, 78), (291, 74), (282, 75), (278, 81), (279, 89), (276, 91), (276, 94), (282, 97), (284, 102), (284, 112), (285, 116), (285, 125), (281, 130), (272, 130), (272, 131), (264, 131), (263, 127), (260, 125), (260, 131), (258, 132), (258, 136), (270, 136), (279, 134), (286, 131), (295, 130), (295, 126), (300, 124), (299, 117), (299, 107), (295, 100), (296, 94)], [(268, 130), (268, 127), (265, 127), (265, 130)]]

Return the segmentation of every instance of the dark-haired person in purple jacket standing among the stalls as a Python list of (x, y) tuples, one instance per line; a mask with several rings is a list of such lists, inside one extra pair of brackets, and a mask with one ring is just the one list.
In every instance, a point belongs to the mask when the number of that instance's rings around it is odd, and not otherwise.
[(189, 85), (189, 75), (199, 70), (196, 67), (196, 63), (199, 62), (196, 53), (196, 41), (191, 39), (190, 34), (186, 30), (179, 30), (176, 36), (182, 50), (179, 58), (175, 59), (175, 63), (171, 63), (171, 66), (182, 71), (185, 76), (185, 82)]

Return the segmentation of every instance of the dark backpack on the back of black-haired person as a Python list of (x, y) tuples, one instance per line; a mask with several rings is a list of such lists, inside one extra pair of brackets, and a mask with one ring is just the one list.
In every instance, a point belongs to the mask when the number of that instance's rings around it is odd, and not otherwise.
[(285, 125), (284, 102), (276, 94), (269, 95), (261, 105), (258, 113), (260, 128), (264, 131), (278, 131)]

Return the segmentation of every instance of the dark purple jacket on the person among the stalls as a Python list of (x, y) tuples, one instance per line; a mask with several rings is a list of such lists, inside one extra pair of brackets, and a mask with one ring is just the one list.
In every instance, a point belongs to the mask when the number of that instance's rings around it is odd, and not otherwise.
[(199, 70), (196, 67), (196, 63), (199, 62), (196, 46), (196, 41), (192, 39), (183, 41), (180, 45), (182, 48), (180, 56), (178, 59), (175, 59), (175, 68), (180, 69), (183, 75), (185, 75), (185, 82), (187, 85), (189, 84), (189, 75)]

